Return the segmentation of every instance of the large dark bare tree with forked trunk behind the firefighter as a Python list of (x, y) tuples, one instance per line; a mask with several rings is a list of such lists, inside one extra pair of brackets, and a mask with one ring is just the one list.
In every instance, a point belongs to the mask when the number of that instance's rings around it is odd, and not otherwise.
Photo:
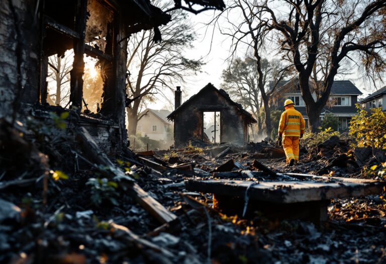
[[(386, 0), (283, 0), (274, 4), (278, 3), (280, 11), (268, 0), (249, 5), (247, 14), (259, 20), (250, 31), (278, 33), (279, 48), (298, 72), (309, 122), (317, 131), (320, 113), (345, 59), (357, 65), (360, 61), (369, 74), (385, 69)], [(325, 73), (314, 100), (310, 78), (321, 56), (327, 56), (322, 65)]]

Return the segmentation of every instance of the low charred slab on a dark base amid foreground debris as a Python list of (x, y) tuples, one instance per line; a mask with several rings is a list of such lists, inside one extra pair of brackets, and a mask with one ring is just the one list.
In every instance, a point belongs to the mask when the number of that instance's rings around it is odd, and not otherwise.
[[(188, 191), (214, 194), (214, 207), (227, 215), (242, 215), (245, 193), (252, 181), (188, 180)], [(373, 180), (331, 178), (317, 181), (259, 182), (248, 190), (248, 212), (260, 211), (270, 218), (307, 219), (316, 224), (327, 220), (333, 198), (378, 194), (384, 184)], [(248, 213), (247, 213), (248, 215)]]

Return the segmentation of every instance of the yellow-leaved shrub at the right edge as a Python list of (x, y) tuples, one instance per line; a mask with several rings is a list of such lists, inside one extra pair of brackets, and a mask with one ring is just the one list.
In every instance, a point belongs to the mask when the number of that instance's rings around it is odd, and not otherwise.
[(350, 121), (349, 135), (354, 137), (359, 147), (386, 149), (386, 115), (381, 108), (367, 112), (358, 108), (358, 114)]

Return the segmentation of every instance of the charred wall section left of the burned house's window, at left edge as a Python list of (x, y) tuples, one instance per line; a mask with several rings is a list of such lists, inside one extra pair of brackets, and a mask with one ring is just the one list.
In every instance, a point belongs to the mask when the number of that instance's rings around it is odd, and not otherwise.
[[(4, 0), (0, 9), (0, 118), (13, 102), (39, 100), (40, 14), (34, 0)], [(20, 91), (20, 93), (18, 93)]]

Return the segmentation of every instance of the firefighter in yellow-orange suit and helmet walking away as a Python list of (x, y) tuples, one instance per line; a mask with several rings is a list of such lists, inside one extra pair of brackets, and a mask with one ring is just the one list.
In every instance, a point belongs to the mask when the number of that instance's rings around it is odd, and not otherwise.
[(302, 114), (295, 110), (292, 100), (285, 100), (284, 109), (279, 122), (278, 141), (282, 142), (287, 165), (293, 166), (299, 161), (299, 138), (303, 137), (306, 123)]

